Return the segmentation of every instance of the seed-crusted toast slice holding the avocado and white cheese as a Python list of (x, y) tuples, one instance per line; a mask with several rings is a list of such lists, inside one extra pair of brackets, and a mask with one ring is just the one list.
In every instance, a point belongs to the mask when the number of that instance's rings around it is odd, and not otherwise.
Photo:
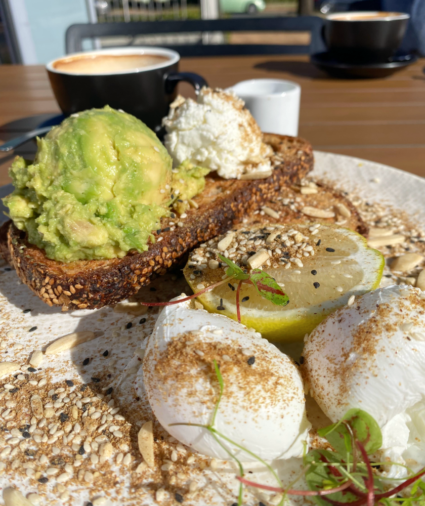
[[(298, 183), (313, 168), (309, 142), (299, 137), (264, 134), (275, 152), (274, 170), (266, 179), (206, 178), (204, 191), (193, 200), (187, 216), (161, 220), (155, 244), (143, 253), (130, 251), (121, 259), (80, 260), (64, 264), (46, 257), (11, 222), (2, 227), (0, 252), (22, 281), (49, 306), (95, 309), (136, 294), (153, 275), (164, 274), (199, 242), (224, 233), (277, 196), (282, 186)], [(195, 204), (195, 205), (196, 205)], [(7, 242), (7, 245), (5, 244)]]

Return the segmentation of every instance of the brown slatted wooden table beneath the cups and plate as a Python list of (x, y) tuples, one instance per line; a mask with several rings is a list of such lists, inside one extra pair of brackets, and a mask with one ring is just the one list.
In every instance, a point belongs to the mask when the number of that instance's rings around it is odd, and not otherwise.
[[(300, 136), (315, 149), (386, 163), (425, 177), (425, 59), (382, 79), (334, 79), (307, 56), (183, 58), (180, 68), (202, 74), (212, 87), (226, 88), (254, 77), (300, 83)], [(183, 95), (191, 94), (181, 85)], [(15, 120), (59, 112), (43, 66), (0, 66), (0, 140), (15, 137)], [(37, 119), (39, 122), (39, 118)], [(28, 122), (26, 122), (28, 124)], [(35, 124), (34, 124), (35, 126)], [(25, 130), (25, 129), (24, 129)], [(27, 143), (19, 154), (31, 155)], [(14, 154), (0, 155), (0, 185)]]

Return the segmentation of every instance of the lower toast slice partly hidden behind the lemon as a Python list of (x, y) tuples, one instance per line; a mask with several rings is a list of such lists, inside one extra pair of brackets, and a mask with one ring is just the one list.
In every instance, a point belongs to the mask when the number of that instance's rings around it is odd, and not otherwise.
[[(301, 187), (297, 186), (282, 187), (277, 197), (264, 204), (265, 210), (263, 209), (260, 213), (253, 214), (244, 220), (244, 226), (263, 223), (293, 223), (294, 225), (308, 222), (336, 223), (367, 237), (368, 226), (343, 191), (335, 190), (321, 183), (317, 183), (317, 188), (313, 190), (317, 193), (303, 195), (300, 190)], [(309, 214), (305, 214), (303, 208)], [(322, 211), (333, 213), (334, 216), (320, 217)], [(318, 216), (312, 216), (314, 214)]]

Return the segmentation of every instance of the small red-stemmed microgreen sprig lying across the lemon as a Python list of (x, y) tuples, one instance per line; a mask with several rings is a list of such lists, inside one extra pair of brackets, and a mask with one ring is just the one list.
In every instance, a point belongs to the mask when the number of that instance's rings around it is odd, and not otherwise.
[(239, 281), (238, 287), (236, 289), (236, 314), (238, 322), (241, 322), (240, 317), (240, 290), (243, 283), (250, 284), (256, 288), (258, 293), (260, 294), (263, 299), (266, 299), (276, 306), (286, 306), (289, 304), (289, 298), (281, 289), (281, 287), (277, 284), (276, 280), (272, 278), (267, 272), (264, 272), (260, 269), (252, 269), (251, 272), (245, 272), (243, 269), (241, 269), (238, 265), (236, 265), (234, 262), (229, 260), (226, 257), (223, 257), (222, 255), (218, 254), (220, 257), (220, 260), (227, 264), (226, 269), (226, 278), (222, 281), (218, 281), (217, 283), (211, 284), (207, 286), (206, 288), (203, 288), (202, 290), (194, 293), (193, 295), (190, 295), (189, 297), (185, 297), (183, 299), (179, 299), (177, 301), (170, 301), (170, 302), (141, 302), (140, 304), (142, 306), (173, 306), (174, 304), (180, 304), (181, 302), (190, 301), (191, 299), (194, 299), (195, 297), (198, 297), (202, 295), (202, 293), (205, 293), (209, 290), (212, 290), (214, 288), (217, 288), (218, 286), (228, 283), (230, 279), (235, 279)]

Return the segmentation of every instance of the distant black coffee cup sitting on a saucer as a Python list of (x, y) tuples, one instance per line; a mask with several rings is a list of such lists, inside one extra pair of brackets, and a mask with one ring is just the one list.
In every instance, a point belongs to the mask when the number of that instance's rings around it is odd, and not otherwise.
[(409, 17), (400, 12), (329, 14), (323, 30), (325, 44), (341, 62), (386, 62), (400, 47)]

